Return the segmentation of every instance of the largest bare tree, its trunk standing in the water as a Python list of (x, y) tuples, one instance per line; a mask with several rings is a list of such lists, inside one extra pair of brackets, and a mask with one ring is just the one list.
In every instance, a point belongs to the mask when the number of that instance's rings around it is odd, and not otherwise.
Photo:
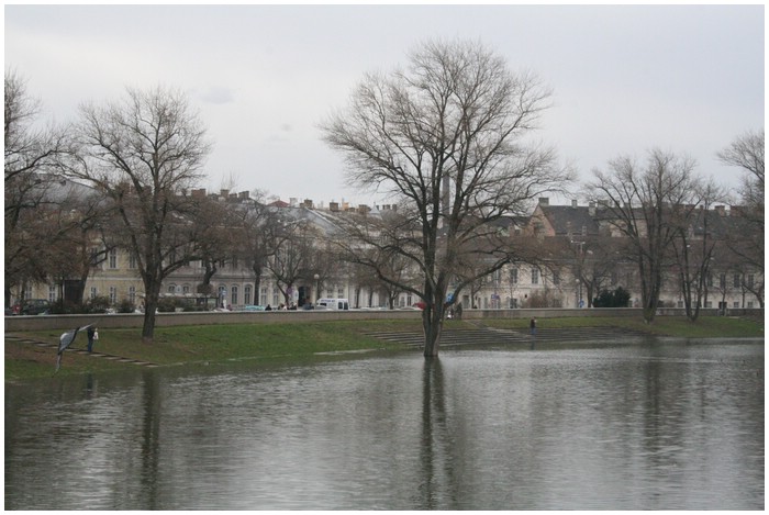
[[(462, 264), (483, 264), (483, 276), (509, 260), (495, 222), (568, 178), (551, 149), (526, 141), (549, 94), (480, 43), (428, 42), (404, 70), (366, 75), (347, 109), (322, 124), (350, 183), (398, 205), (395, 220), (364, 237), (359, 261), (425, 303), (426, 357), (438, 355), (449, 287), (456, 299), (476, 279), (457, 280)], [(394, 256), (419, 270), (420, 288), (388, 277), (382, 265)]]

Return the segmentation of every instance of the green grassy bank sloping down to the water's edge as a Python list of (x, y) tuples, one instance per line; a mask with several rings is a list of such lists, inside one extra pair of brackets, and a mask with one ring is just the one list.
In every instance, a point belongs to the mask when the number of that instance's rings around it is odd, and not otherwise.
[[(461, 327), (466, 322), (447, 321), (447, 327)], [(493, 327), (524, 328), (526, 320), (482, 321)], [(682, 317), (659, 317), (654, 324), (623, 317), (543, 318), (540, 327), (624, 327), (660, 336), (677, 337), (764, 337), (762, 321), (705, 317), (695, 324)], [(421, 331), (419, 321), (311, 322), (300, 324), (248, 324), (158, 327), (155, 342), (141, 343), (140, 329), (100, 331), (94, 351), (137, 359), (159, 366), (193, 365), (250, 359), (261, 362), (296, 362), (319, 354), (361, 350), (400, 351), (399, 344), (382, 342), (367, 333)], [(59, 331), (20, 333), (15, 336), (56, 344)], [(73, 348), (86, 347), (85, 335), (78, 335)], [(56, 348), (5, 340), (5, 381), (51, 377), (56, 362)], [(93, 371), (124, 370), (136, 365), (93, 356), (66, 352), (63, 376)]]

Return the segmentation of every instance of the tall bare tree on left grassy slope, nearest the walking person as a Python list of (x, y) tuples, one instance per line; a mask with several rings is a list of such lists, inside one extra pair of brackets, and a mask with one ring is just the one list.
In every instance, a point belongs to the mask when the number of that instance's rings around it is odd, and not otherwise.
[(205, 130), (183, 94), (158, 87), (83, 105), (77, 137), (82, 159), (70, 172), (113, 203), (144, 282), (142, 339), (151, 343), (161, 282), (193, 256), (196, 204), (186, 192), (210, 149)]

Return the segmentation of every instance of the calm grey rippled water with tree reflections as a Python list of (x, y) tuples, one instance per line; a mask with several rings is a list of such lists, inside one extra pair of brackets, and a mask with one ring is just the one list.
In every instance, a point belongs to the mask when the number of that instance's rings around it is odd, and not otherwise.
[(5, 387), (7, 510), (762, 510), (764, 342)]

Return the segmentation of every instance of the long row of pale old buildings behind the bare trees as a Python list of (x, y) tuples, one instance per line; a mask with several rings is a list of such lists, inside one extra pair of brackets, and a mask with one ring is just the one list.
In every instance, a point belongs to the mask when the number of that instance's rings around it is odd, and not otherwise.
[[(247, 193), (221, 191), (212, 194), (196, 190), (198, 195), (211, 195), (221, 202), (233, 205), (253, 202)], [(275, 201), (275, 210), (283, 210), (293, 217), (301, 217), (312, 224), (320, 234), (334, 231), (341, 216), (348, 213), (379, 216), (395, 209), (394, 205), (358, 205), (331, 202), (327, 206), (315, 205), (310, 200), (302, 202), (290, 199), (289, 202)], [(728, 232), (728, 220), (733, 210), (717, 206), (706, 216), (714, 221), (711, 231)], [(568, 205), (551, 205), (546, 198), (539, 199), (530, 216), (510, 217), (503, 229), (512, 236), (527, 236), (531, 240), (559, 242), (558, 245), (544, 245), (540, 259), (526, 259), (511, 262), (461, 293), (464, 309), (516, 309), (516, 307), (588, 307), (591, 298), (601, 290), (614, 290), (622, 287), (631, 293), (631, 305), (640, 305), (637, 284), (637, 266), (611, 255), (602, 237), (616, 238), (611, 227), (602, 220), (600, 210), (594, 204), (579, 205), (572, 201)], [(696, 235), (694, 235), (696, 237)], [(707, 235), (704, 235), (707, 237)], [(557, 250), (554, 250), (557, 248)], [(610, 253), (610, 254), (606, 254)], [(344, 268), (342, 268), (344, 270)], [(201, 261), (192, 261), (174, 272), (163, 287), (161, 296), (170, 299), (200, 300), (197, 293), (204, 269)], [(337, 273), (334, 277), (307, 275), (289, 291), (288, 305), (302, 306), (319, 298), (349, 299), (350, 307), (409, 307), (420, 299), (403, 292), (391, 299), (376, 284), (359, 284), (350, 275)], [(710, 268), (707, 278), (709, 293), (702, 302), (703, 307), (758, 307), (756, 291), (762, 296), (764, 277), (760, 270), (745, 266), (735, 266), (726, 260)], [(758, 288), (758, 284), (761, 284)], [(257, 286), (258, 284), (258, 286)], [(221, 264), (212, 280), (214, 293), (210, 295), (210, 306), (229, 310), (242, 310), (250, 305), (287, 304), (276, 278), (266, 272), (255, 281), (252, 268), (242, 259), (232, 259)], [(29, 284), (26, 299), (58, 300), (62, 294), (59, 284)], [(105, 296), (111, 304), (123, 301), (135, 306), (142, 305), (143, 284), (138, 277), (136, 264), (129, 253), (113, 249), (107, 259), (96, 266), (85, 289), (86, 298)], [(666, 288), (661, 295), (662, 305), (682, 307), (683, 299), (676, 273), (666, 278)]]

